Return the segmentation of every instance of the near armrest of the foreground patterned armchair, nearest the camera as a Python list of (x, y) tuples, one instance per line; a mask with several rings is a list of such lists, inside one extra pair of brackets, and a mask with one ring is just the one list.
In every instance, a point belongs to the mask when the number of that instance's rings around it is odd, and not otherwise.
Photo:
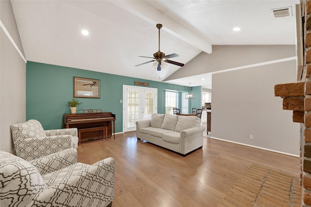
[(33, 206), (107, 206), (114, 198), (115, 159), (105, 158), (37, 194)]

